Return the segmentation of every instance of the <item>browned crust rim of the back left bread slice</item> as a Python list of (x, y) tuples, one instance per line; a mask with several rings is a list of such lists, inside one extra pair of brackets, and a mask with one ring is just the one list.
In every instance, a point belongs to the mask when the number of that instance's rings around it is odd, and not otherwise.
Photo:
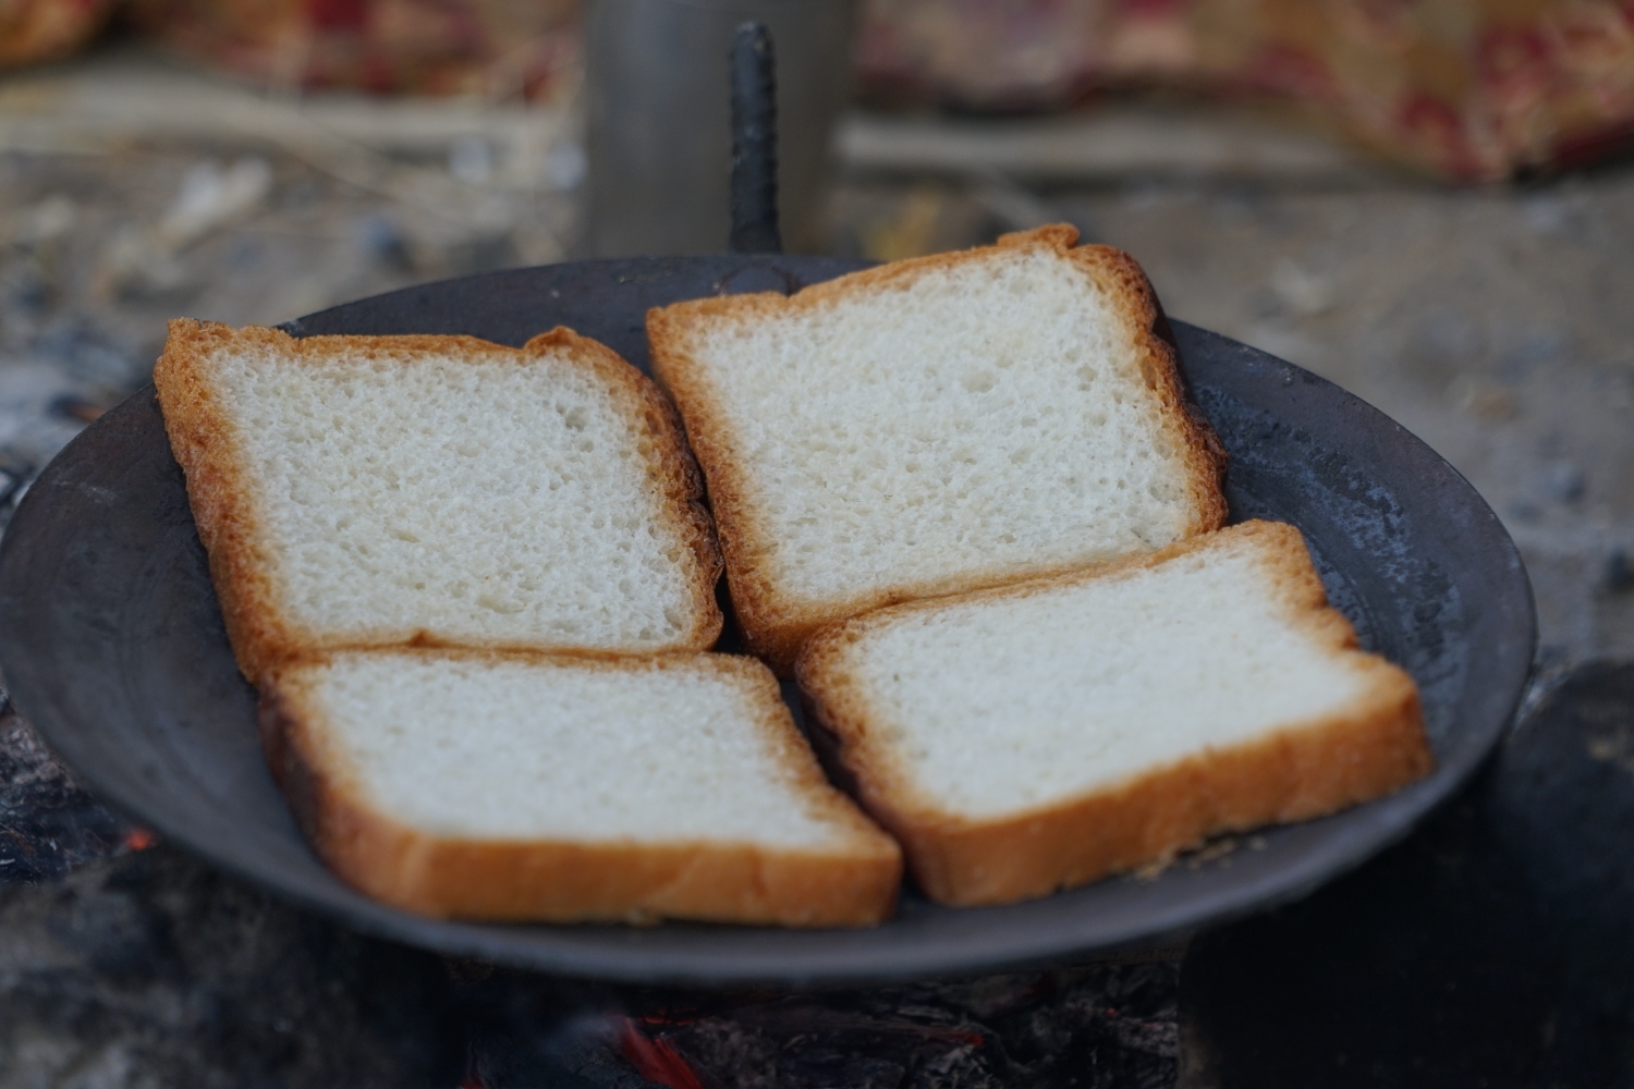
[[(680, 415), (663, 393), (611, 348), (569, 328), (541, 333), (521, 349), (474, 336), (309, 336), (296, 340), (273, 328), (235, 330), (216, 322), (170, 322), (165, 351), (154, 366), (154, 385), (170, 436), (170, 449), (186, 475), (188, 500), (199, 540), (209, 557), (211, 581), (221, 601), (227, 638), (239, 669), (255, 679), (278, 661), (348, 645), (448, 645), (431, 630), (381, 632), (376, 640), (325, 637), (296, 624), (284, 611), (266, 560), (266, 519), (250, 485), (243, 451), (219, 400), (209, 358), (221, 349), (265, 349), (320, 366), (335, 358), (438, 353), (466, 359), (505, 359), (518, 364), (564, 351), (595, 371), (613, 392), (632, 431), (644, 436), (642, 454), (663, 508), (696, 560), (691, 580), (693, 627), (675, 650), (704, 650), (721, 635), (714, 598), (722, 558), (714, 524), (703, 501), (703, 475), (686, 446)], [(461, 640), (469, 643), (469, 640)], [(503, 647), (497, 647), (503, 648)], [(551, 650), (551, 647), (520, 647)]]

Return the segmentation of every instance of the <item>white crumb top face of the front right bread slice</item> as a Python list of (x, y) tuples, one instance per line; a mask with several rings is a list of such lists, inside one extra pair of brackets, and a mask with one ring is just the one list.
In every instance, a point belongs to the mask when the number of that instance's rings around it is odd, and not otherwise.
[[(802, 679), (866, 722), (912, 805), (969, 820), (1111, 790), (1315, 725), (1405, 674), (1351, 648), (1297, 531), (1255, 524), (1105, 578), (926, 602), (819, 638)], [(1422, 741), (1420, 741), (1422, 745)], [(1181, 800), (1183, 803), (1183, 800)]]

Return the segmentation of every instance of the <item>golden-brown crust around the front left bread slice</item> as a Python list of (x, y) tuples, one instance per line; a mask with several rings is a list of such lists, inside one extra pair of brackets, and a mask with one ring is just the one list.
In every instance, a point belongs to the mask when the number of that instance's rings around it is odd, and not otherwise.
[(757, 661), (727, 655), (585, 658), (497, 651), (374, 653), (569, 663), (593, 669), (709, 669), (747, 689), (760, 723), (810, 805), (853, 834), (838, 851), (773, 849), (730, 841), (574, 842), (433, 836), (374, 808), (325, 731), (310, 668), (284, 663), (261, 679), (266, 761), (319, 857), (359, 891), (433, 918), (624, 921), (660, 918), (791, 927), (873, 926), (895, 909), (897, 844), (828, 785), (794, 728), (776, 681)]

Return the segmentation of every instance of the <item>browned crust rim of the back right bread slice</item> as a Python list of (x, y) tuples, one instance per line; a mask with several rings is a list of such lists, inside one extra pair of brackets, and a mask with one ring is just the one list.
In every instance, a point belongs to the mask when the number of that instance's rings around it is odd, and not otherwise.
[(691, 356), (693, 335), (711, 323), (750, 322), (791, 310), (814, 310), (856, 292), (907, 286), (926, 273), (982, 260), (995, 248), (1047, 247), (1083, 269), (1106, 292), (1108, 299), (1116, 300), (1114, 309), (1129, 327), (1131, 340), (1139, 353), (1141, 374), (1154, 392), (1160, 416), (1183, 451), (1190, 470), (1188, 495), (1194, 516), (1186, 534), (1209, 532), (1226, 522), (1226, 496), (1221, 490), (1226, 477), (1226, 449), (1186, 395), (1173, 344), (1163, 336), (1167, 325), (1152, 284), (1134, 258), (1121, 250), (1100, 245), (1077, 247), (1077, 240), (1075, 227), (1056, 224), (1003, 235), (995, 247), (940, 253), (863, 269), (812, 284), (792, 296), (763, 292), (694, 299), (647, 312), (652, 372), (680, 407), (686, 421), (686, 436), (703, 467), (709, 487), (709, 504), (725, 553), (732, 604), (750, 648), (778, 676), (792, 676), (794, 658), (804, 642), (819, 629), (845, 617), (900, 601), (966, 593), (1018, 578), (1056, 575), (1074, 570), (1080, 563), (1041, 565), (1025, 571), (1011, 568), (969, 571), (954, 578), (904, 581), (835, 601), (789, 601), (779, 591), (771, 571), (757, 562), (770, 532), (748, 498), (748, 469), (735, 454), (739, 439), (732, 421), (721, 410), (701, 367)]

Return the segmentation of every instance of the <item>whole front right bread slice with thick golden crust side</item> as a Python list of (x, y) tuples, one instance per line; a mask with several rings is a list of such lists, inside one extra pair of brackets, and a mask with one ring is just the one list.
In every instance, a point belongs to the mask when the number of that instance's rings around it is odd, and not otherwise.
[(943, 903), (1042, 896), (1426, 776), (1412, 678), (1292, 526), (895, 606), (799, 660), (863, 807)]

